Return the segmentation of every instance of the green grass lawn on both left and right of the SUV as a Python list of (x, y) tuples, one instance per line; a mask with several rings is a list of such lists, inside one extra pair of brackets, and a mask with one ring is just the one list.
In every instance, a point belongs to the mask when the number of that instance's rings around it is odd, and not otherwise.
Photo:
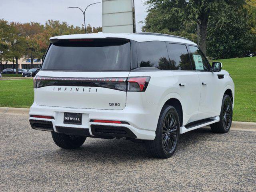
[[(256, 122), (256, 57), (218, 60), (235, 83), (234, 121)], [(33, 80), (0, 80), (0, 106), (29, 108)]]

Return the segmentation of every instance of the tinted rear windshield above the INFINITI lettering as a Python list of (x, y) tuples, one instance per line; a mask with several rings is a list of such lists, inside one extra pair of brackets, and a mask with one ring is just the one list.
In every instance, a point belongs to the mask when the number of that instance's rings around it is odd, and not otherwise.
[(123, 40), (69, 40), (53, 43), (44, 70), (130, 70), (131, 46)]

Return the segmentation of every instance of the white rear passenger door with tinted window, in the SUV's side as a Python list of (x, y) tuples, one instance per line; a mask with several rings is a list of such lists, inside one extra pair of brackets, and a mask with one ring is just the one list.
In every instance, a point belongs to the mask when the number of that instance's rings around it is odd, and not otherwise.
[(178, 94), (182, 98), (184, 125), (198, 120), (201, 86), (196, 71), (192, 70), (186, 45), (166, 43), (171, 70), (177, 79)]

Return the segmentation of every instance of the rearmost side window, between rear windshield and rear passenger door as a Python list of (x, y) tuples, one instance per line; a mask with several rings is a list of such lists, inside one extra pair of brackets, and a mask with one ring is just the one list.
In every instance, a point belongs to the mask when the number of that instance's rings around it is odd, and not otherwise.
[(156, 67), (170, 70), (168, 52), (165, 42), (137, 42), (138, 67)]

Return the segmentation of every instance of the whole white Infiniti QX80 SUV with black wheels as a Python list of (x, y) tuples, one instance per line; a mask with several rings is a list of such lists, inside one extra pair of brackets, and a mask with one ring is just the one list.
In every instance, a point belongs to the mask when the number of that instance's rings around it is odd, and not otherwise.
[(232, 78), (186, 38), (98, 33), (50, 42), (29, 120), (61, 148), (78, 148), (86, 137), (125, 137), (168, 158), (180, 134), (206, 125), (230, 129)]

